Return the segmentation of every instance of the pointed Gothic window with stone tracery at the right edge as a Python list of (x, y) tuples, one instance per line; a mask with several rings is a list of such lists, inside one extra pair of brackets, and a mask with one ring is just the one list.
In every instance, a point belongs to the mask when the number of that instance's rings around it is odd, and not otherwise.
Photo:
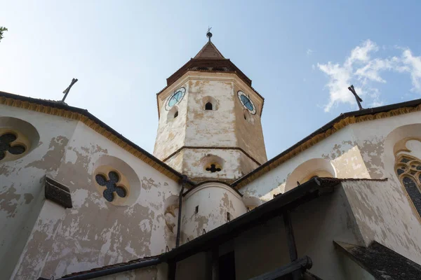
[(410, 155), (398, 155), (395, 170), (410, 202), (421, 216), (421, 160)]

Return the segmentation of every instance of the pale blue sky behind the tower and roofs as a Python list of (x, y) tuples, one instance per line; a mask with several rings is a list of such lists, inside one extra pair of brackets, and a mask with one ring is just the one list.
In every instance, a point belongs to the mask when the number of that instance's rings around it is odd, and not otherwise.
[(0, 90), (62, 98), (153, 151), (156, 92), (213, 43), (265, 97), (268, 158), (340, 113), (421, 98), (420, 1), (2, 1)]

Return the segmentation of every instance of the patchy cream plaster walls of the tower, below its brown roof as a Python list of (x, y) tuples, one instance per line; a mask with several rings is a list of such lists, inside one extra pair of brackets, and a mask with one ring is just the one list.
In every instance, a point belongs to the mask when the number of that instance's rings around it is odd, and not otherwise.
[[(178, 87), (185, 87), (186, 93), (177, 104), (179, 116), (167, 120), (166, 100)], [(253, 116), (253, 123), (243, 119), (243, 107), (237, 97), (237, 90), (250, 94), (257, 111), (262, 108), (262, 101), (236, 75), (232, 73), (204, 73), (189, 71), (178, 83), (171, 85), (159, 94), (161, 119), (156, 137), (154, 155), (166, 159), (178, 148), (187, 147), (224, 147), (243, 148), (249, 155), (262, 163), (267, 160), (263, 141), (260, 116)], [(205, 110), (206, 102), (212, 99), (215, 110)], [(250, 138), (249, 135), (253, 134)], [(206, 179), (234, 180), (258, 166), (252, 159), (239, 155), (239, 151), (211, 149), (209, 154), (218, 154), (227, 161), (224, 172), (209, 174), (200, 165), (201, 149), (173, 155), (166, 163), (176, 170), (187, 174), (194, 181)], [(197, 155), (196, 155), (197, 154)], [(241, 160), (240, 160), (241, 158)], [(181, 161), (181, 162), (180, 162)], [(181, 168), (181, 169), (180, 169)]]

